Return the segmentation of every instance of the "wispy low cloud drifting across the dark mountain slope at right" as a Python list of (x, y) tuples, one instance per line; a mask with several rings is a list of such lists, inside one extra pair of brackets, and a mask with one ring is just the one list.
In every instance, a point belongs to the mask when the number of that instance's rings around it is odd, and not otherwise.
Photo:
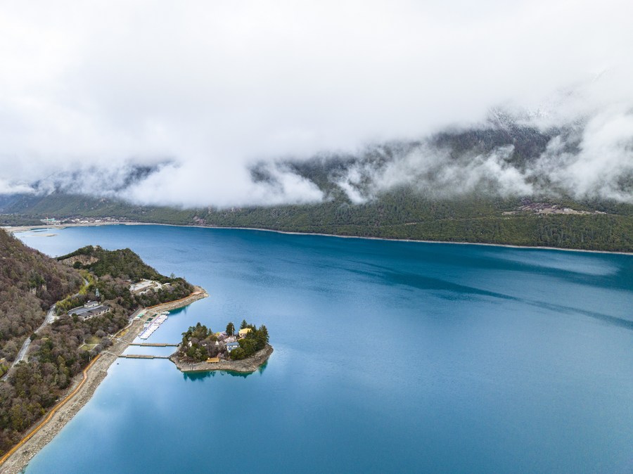
[[(511, 126), (517, 127), (515, 122)], [(535, 121), (524, 120), (508, 134), (538, 133), (529, 126), (535, 127)], [(480, 133), (498, 130), (491, 125)], [(438, 198), (484, 191), (504, 197), (564, 194), (633, 203), (633, 111), (604, 110), (582, 123), (544, 129), (543, 134), (549, 137), (544, 150), (523, 160), (513, 156), (512, 144), (484, 153), (473, 148), (456, 156), (453, 148), (438, 147), (429, 139), (385, 162), (359, 160), (338, 183), (354, 203), (397, 186)]]

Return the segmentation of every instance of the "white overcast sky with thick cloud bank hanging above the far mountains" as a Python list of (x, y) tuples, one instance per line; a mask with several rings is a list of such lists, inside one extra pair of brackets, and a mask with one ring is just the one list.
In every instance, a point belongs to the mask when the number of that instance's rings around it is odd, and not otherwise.
[(126, 196), (319, 200), (283, 170), (281, 187), (253, 184), (248, 165), (416, 139), (496, 106), (544, 123), (619, 120), (602, 140), (622, 141), (633, 136), (630, 5), (6, 0), (0, 193), (68, 169), (116, 179), (170, 162)]

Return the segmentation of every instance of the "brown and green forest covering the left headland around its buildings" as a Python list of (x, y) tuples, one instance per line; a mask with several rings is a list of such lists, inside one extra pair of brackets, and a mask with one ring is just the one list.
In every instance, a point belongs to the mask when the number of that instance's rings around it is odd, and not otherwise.
[[(177, 300), (193, 287), (183, 278), (159, 274), (129, 249), (86, 247), (58, 261), (0, 231), (0, 258), (2, 357), (13, 360), (31, 338), (27, 361), (0, 380), (1, 455), (44, 416), (90, 359), (111, 344), (109, 336), (128, 324), (132, 310)], [(169, 284), (132, 295), (129, 285), (140, 278)], [(66, 314), (87, 300), (101, 300), (111, 311), (87, 321)], [(53, 304), (58, 319), (35, 333)]]

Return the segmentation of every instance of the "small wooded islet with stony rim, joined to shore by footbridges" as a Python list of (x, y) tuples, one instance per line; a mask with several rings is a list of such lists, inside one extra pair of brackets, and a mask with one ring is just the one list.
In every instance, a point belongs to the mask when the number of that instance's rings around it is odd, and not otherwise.
[(203, 324), (191, 326), (182, 333), (182, 342), (170, 360), (182, 372), (256, 371), (273, 352), (268, 329), (248, 324), (244, 319), (238, 331), (233, 323), (226, 330), (214, 333)]

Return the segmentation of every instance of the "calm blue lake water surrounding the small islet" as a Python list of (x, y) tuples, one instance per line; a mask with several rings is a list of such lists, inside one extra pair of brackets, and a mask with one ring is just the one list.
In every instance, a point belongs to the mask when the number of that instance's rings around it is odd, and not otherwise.
[(53, 256), (129, 247), (208, 291), (148, 342), (247, 319), (275, 348), (249, 376), (120, 359), (27, 473), (633, 471), (631, 256), (169, 226), (18, 237)]

